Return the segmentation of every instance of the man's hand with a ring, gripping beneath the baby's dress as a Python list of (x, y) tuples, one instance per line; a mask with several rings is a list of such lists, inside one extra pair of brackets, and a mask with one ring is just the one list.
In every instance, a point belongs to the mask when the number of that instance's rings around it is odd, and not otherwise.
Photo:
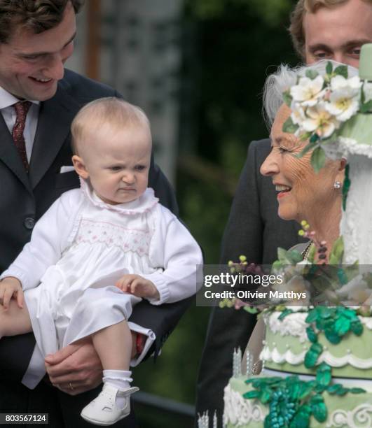
[[(132, 333), (132, 357), (136, 354), (136, 336)], [(90, 338), (67, 345), (45, 359), (50, 382), (70, 395), (92, 390), (102, 383), (102, 364)]]

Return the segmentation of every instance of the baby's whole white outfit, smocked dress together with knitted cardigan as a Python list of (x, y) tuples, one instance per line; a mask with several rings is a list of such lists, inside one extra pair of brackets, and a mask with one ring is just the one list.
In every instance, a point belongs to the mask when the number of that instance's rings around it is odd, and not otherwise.
[(151, 280), (160, 293), (151, 303), (163, 304), (196, 292), (198, 264), (198, 244), (152, 189), (130, 203), (109, 205), (82, 181), (81, 189), (63, 194), (43, 215), (1, 278), (21, 281), (36, 343), (46, 356), (128, 320), (141, 299), (114, 287), (125, 273)]

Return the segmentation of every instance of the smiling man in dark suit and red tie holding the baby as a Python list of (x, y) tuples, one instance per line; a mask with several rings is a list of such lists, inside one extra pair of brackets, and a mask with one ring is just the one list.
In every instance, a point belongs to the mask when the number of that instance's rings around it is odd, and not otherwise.
[[(29, 241), (34, 223), (53, 201), (79, 185), (78, 176), (68, 168), (74, 115), (92, 99), (120, 96), (110, 87), (64, 70), (74, 50), (81, 3), (0, 0), (0, 271)], [(163, 205), (177, 213), (174, 193), (153, 159), (149, 186)], [(157, 355), (189, 303), (142, 302), (130, 321), (139, 331), (150, 329), (156, 334), (151, 350)], [(135, 332), (132, 336), (132, 355), (141, 355), (141, 339), (146, 336)], [(49, 413), (52, 427), (90, 426), (80, 418), (80, 411), (97, 395), (102, 382), (92, 344), (69, 345), (49, 357), (46, 380), (31, 391), (21, 381), (27, 383), (24, 374), (33, 364), (34, 345), (32, 334), (1, 338), (0, 413)], [(135, 427), (134, 416), (115, 426)]]

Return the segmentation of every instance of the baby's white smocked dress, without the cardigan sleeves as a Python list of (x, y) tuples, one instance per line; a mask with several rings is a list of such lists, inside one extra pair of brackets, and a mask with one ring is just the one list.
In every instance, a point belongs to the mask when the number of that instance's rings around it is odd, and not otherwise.
[(74, 241), (41, 284), (25, 292), (36, 343), (43, 355), (128, 320), (138, 297), (123, 293), (115, 282), (125, 273), (156, 271), (149, 261), (153, 236), (151, 190), (141, 201), (105, 204), (83, 185), (88, 204), (78, 219)]

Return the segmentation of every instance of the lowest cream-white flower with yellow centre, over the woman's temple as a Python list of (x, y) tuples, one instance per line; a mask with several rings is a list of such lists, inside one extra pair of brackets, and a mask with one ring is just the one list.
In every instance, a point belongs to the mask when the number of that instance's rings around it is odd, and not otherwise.
[(305, 131), (315, 131), (319, 137), (328, 138), (333, 131), (340, 126), (340, 122), (334, 115), (331, 115), (326, 108), (326, 103), (320, 101), (316, 106), (306, 110), (306, 119), (302, 122)]

